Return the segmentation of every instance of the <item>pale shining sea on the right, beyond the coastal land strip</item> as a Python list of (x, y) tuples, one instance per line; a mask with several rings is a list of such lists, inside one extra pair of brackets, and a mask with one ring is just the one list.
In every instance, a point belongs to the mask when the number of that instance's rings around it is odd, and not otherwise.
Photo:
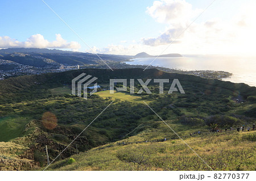
[[(154, 58), (135, 58), (126, 64), (148, 65)], [(256, 86), (256, 56), (185, 55), (183, 57), (160, 57), (151, 64), (180, 70), (222, 70), (233, 75), (223, 81), (246, 83)]]

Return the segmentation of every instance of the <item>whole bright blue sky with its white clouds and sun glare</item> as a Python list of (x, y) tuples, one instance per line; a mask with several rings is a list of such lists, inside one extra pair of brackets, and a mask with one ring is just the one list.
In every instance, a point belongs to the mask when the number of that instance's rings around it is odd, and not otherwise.
[(44, 2), (0, 2), (0, 48), (130, 55), (255, 54), (253, 0)]

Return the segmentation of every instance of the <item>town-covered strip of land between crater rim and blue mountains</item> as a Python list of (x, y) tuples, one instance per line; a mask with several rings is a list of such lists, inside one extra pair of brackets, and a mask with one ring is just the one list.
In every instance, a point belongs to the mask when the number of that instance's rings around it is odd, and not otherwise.
[[(113, 69), (128, 69), (128, 68), (146, 68), (145, 65), (129, 65), (125, 64), (125, 62), (115, 62), (115, 61), (108, 61), (108, 65)], [(106, 69), (106, 65), (102, 63), (102, 61), (97, 61), (97, 64), (89, 64), (89, 65), (64, 65), (61, 64), (59, 67), (56, 65), (52, 66), (45, 66), (43, 68), (30, 66), (30, 65), (22, 65), (15, 63), (13, 61), (8, 60), (1, 60), (0, 59), (0, 80), (9, 78), (9, 77), (16, 77), (20, 75), (34, 75), (34, 74), (43, 74), (43, 73), (52, 73), (52, 72), (60, 72), (60, 71), (68, 71), (68, 70), (75, 70), (75, 69)], [(160, 66), (148, 66), (148, 69), (159, 69), (162, 71), (166, 71), (168, 73), (179, 73), (179, 74), (189, 74), (195, 75), (202, 78), (209, 78), (209, 79), (222, 79), (227, 78), (232, 75), (232, 73), (228, 73), (226, 71), (213, 71), (213, 70), (179, 70), (179, 69), (169, 69)]]

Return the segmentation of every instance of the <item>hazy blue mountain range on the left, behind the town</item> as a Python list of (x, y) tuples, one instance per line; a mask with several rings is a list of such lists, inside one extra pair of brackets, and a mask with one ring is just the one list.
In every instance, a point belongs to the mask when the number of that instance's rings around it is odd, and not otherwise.
[[(10, 60), (22, 65), (30, 65), (44, 68), (46, 66), (58, 67), (60, 64), (66, 65), (88, 65), (98, 64), (98, 56), (93, 53), (71, 52), (46, 48), (7, 48), (0, 49), (0, 56), (3, 60)], [(104, 61), (123, 61), (132, 56), (121, 56), (114, 54), (100, 54)], [(47, 62), (46, 59), (50, 60)], [(10, 69), (3, 67), (2, 69)], [(0, 67), (1, 69), (1, 67)]]

